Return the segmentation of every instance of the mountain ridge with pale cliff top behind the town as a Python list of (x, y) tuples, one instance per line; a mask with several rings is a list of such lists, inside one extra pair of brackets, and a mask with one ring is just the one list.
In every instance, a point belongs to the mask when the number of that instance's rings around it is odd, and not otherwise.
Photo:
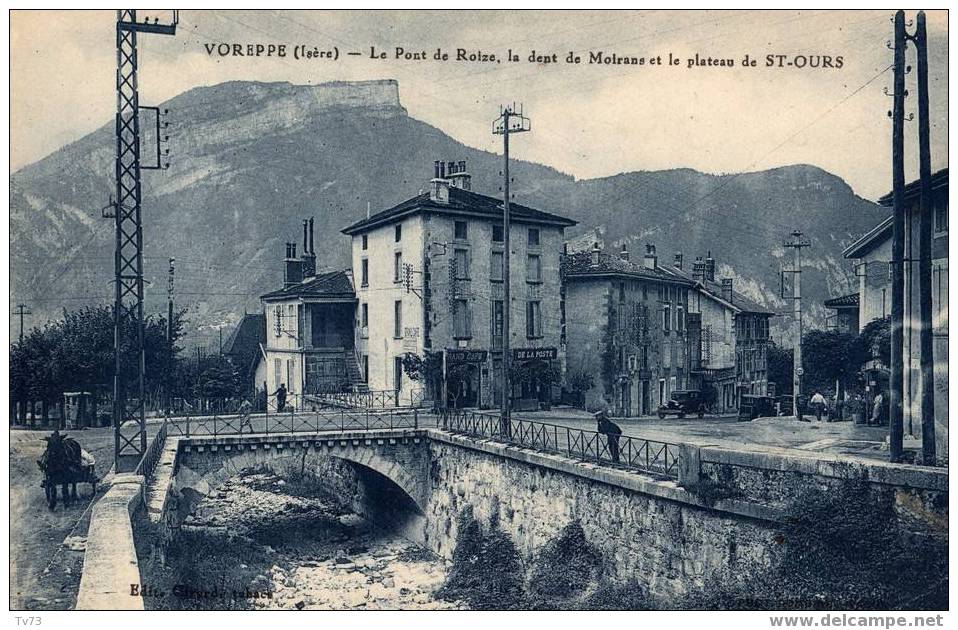
[[(474, 189), (501, 196), (501, 156), (411, 118), (395, 80), (231, 81), (160, 107), (172, 110), (174, 155), (168, 171), (144, 174), (147, 308), (165, 305), (165, 259), (173, 256), (178, 301), (190, 305), (201, 334), (257, 310), (258, 296), (282, 282), (283, 243), (296, 239), (304, 217), (317, 217), (320, 266), (335, 268), (349, 261), (339, 230), (365, 216), (367, 202), (376, 212), (415, 195), (434, 160), (466, 159)], [(36, 305), (41, 318), (83, 303), (84, 292), (109, 298), (112, 221), (98, 211), (112, 191), (113, 145), (107, 124), (11, 175), (11, 297)], [(605, 246), (625, 241), (639, 251), (654, 240), (662, 264), (673, 251), (691, 264), (710, 249), (721, 273), (780, 310), (784, 303), (771, 297), (778, 250), (802, 227), (820, 244), (808, 250), (803, 287), (813, 321), (824, 317), (822, 299), (852, 286), (842, 245), (887, 216), (815, 165), (577, 179), (516, 160), (512, 175), (517, 202), (579, 221), (567, 232), (572, 242), (598, 234)], [(49, 295), (64, 286), (72, 291)]]

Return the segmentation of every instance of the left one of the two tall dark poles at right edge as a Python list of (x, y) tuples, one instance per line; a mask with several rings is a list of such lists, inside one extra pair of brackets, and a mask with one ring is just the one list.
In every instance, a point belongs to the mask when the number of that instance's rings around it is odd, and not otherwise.
[(888, 442), (891, 461), (904, 449), (902, 392), (904, 364), (905, 258), (905, 12), (895, 13), (894, 104), (892, 106), (891, 374), (888, 379)]

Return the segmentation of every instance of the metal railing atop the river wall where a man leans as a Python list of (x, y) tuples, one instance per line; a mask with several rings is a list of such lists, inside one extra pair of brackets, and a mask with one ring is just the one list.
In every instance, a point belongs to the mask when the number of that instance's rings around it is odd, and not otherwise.
[(567, 455), (584, 461), (611, 464), (678, 478), (677, 444), (628, 435), (513, 418), (508, 426), (497, 415), (462, 410), (439, 412), (439, 427), (472, 437), (502, 440), (526, 448)]

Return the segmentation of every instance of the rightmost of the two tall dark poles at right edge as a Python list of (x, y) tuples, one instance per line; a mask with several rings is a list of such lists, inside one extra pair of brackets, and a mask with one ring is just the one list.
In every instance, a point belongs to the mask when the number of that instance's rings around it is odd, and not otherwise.
[(919, 11), (915, 36), (918, 54), (918, 170), (921, 177), (918, 234), (918, 343), (921, 349), (921, 454), (922, 463), (934, 466), (935, 375), (931, 299), (931, 146), (928, 122), (928, 36), (925, 12)]

